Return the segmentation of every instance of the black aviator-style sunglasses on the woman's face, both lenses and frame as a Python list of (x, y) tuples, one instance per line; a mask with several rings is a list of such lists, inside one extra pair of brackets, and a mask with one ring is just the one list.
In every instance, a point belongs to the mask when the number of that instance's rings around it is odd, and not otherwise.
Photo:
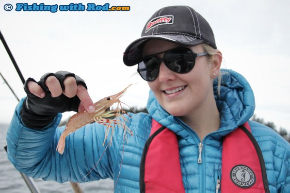
[[(163, 58), (156, 55), (164, 52)], [(194, 53), (190, 48), (174, 48), (167, 51), (147, 56), (138, 64), (137, 72), (146, 81), (153, 81), (158, 77), (160, 64), (163, 61), (167, 68), (173, 72), (184, 74), (191, 71), (197, 56), (205, 56), (208, 53)]]

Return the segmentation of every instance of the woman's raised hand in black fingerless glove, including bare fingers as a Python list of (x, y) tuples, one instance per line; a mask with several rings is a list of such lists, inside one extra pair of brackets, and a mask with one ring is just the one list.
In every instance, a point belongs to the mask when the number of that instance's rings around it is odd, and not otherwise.
[[(70, 72), (47, 73), (38, 82), (29, 78), (24, 90), (27, 98), (21, 116), (29, 126), (43, 126), (40, 121), (51, 122), (57, 113), (84, 110), (93, 113), (95, 110), (84, 80)], [(33, 121), (35, 119), (37, 124)]]

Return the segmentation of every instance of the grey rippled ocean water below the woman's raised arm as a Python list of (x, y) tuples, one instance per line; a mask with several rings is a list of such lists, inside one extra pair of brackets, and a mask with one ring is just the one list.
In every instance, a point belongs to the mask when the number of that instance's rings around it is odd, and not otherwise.
[[(8, 161), (4, 146), (8, 125), (0, 124), (0, 193), (30, 193), (20, 173)], [(63, 184), (54, 181), (34, 179), (34, 183), (41, 193), (74, 193), (69, 182)], [(92, 182), (79, 183), (83, 193), (113, 193), (113, 180), (103, 179)]]

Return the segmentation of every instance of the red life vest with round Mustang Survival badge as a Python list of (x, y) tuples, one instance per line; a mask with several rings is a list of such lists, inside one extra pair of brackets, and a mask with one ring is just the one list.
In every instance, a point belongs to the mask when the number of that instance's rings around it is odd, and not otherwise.
[[(185, 193), (177, 136), (153, 120), (140, 163), (141, 193)], [(226, 135), (221, 193), (270, 193), (262, 152), (248, 123)]]

